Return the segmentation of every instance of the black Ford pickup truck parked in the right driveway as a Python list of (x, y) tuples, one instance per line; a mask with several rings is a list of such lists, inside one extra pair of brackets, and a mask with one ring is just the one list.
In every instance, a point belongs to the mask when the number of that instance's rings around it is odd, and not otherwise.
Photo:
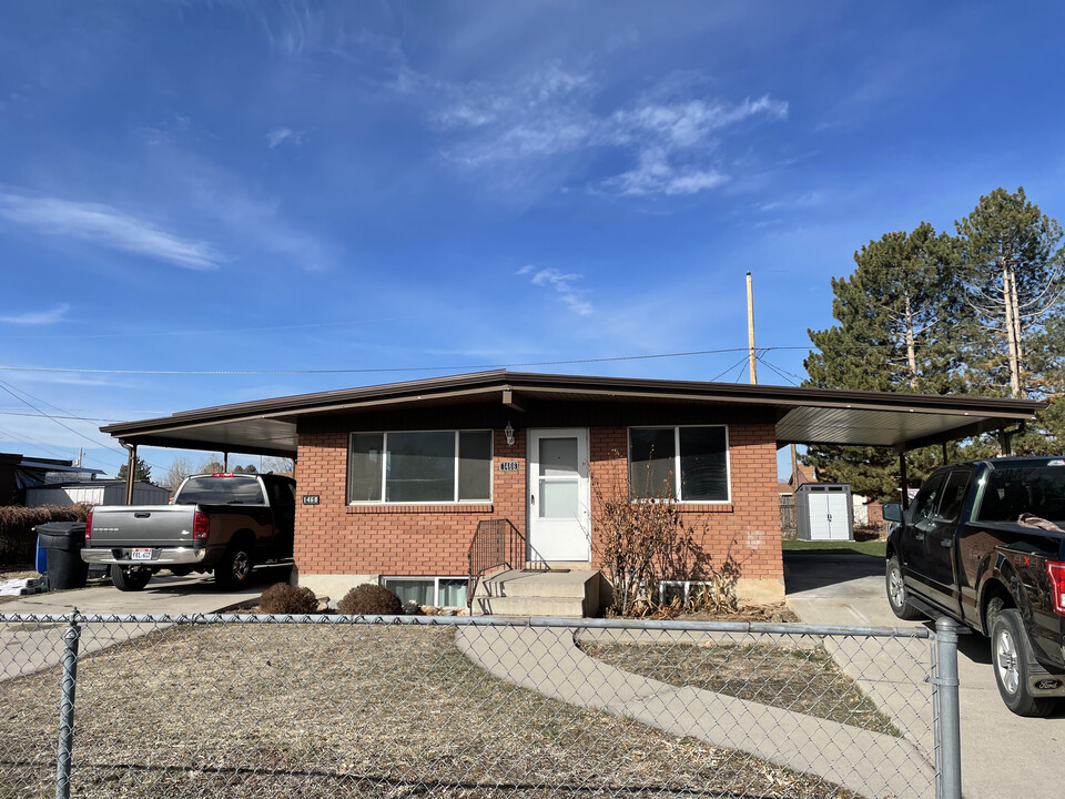
[(1065, 457), (933, 472), (888, 538), (888, 600), (904, 619), (947, 615), (991, 637), (1003, 701), (1048, 716), (1065, 696)]

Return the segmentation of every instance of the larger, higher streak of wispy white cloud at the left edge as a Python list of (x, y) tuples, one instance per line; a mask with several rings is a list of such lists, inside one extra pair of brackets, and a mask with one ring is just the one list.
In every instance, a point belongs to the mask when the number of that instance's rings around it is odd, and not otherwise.
[(48, 235), (91, 241), (184, 269), (211, 270), (224, 261), (205, 242), (168, 233), (110, 205), (0, 193), (0, 216)]

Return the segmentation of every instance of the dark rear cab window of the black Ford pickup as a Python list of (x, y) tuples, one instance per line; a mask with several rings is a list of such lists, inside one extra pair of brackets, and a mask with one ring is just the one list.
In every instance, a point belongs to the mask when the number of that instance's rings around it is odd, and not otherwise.
[(1065, 522), (1065, 463), (995, 468), (991, 473), (977, 518), (1016, 522), (1021, 514)]

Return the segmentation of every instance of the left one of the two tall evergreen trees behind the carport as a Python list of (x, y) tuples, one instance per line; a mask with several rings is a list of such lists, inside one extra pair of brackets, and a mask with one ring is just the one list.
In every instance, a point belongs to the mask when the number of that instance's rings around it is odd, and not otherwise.
[[(839, 324), (809, 331), (816, 347), (805, 361), (804, 385), (821, 388), (957, 391), (960, 358), (968, 350), (972, 313), (963, 301), (951, 236), (922, 222), (854, 254), (850, 277), (832, 280)], [(961, 456), (957, 445), (949, 456)], [(937, 465), (940, 447), (907, 454), (911, 476)], [(899, 458), (886, 447), (810, 447), (803, 461), (821, 479), (850, 483), (854, 493), (897, 499)]]

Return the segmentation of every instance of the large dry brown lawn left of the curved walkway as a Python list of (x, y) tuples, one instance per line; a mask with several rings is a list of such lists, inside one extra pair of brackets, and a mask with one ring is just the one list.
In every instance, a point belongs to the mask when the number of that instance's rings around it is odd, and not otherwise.
[[(0, 796), (53, 795), (58, 684), (0, 684)], [(497, 680), (447, 627), (153, 630), (80, 663), (77, 708), (75, 797), (853, 796)]]

